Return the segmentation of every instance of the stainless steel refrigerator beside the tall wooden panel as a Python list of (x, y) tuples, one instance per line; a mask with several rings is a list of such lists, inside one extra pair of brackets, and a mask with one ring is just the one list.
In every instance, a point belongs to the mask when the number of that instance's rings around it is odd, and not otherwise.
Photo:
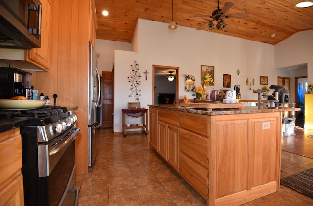
[(97, 122), (97, 107), (101, 98), (100, 75), (97, 67), (96, 51), (92, 44), (89, 44), (89, 72), (88, 72), (88, 171), (92, 171), (96, 159), (96, 129), (100, 127)]

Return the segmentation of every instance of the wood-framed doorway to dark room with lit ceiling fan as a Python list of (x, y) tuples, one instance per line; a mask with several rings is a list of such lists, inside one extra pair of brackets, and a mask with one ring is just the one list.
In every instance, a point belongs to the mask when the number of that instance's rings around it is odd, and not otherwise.
[[(167, 77), (170, 75), (174, 76), (173, 81), (168, 80)], [(152, 103), (154, 105), (159, 104), (160, 94), (164, 96), (162, 99), (165, 99), (165, 103), (167, 103), (166, 100), (170, 101), (173, 94), (173, 103), (179, 103), (179, 67), (152, 65)]]

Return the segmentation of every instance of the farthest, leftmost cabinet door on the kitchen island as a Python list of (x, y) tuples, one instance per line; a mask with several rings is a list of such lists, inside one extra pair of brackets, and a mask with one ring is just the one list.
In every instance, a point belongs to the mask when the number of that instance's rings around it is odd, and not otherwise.
[(149, 143), (158, 152), (157, 110), (149, 109)]

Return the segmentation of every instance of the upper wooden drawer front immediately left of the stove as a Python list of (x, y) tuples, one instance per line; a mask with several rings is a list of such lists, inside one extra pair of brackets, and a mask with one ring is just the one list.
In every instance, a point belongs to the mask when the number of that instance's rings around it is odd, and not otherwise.
[[(22, 139), (20, 130), (1, 133), (0, 138), (0, 185), (15, 173), (21, 173)], [(10, 137), (10, 138), (8, 138)]]

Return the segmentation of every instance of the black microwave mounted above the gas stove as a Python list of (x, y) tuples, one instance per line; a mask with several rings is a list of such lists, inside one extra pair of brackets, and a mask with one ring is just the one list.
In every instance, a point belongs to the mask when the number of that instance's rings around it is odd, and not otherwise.
[(0, 0), (0, 47), (40, 47), (41, 11), (39, 0)]

